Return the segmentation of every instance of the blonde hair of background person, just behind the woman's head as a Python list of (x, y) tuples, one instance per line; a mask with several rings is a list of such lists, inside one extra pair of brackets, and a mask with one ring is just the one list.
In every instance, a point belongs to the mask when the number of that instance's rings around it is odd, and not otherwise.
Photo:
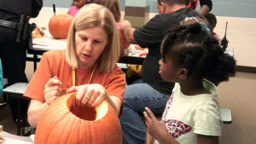
[(84, 3), (85, 4), (89, 4), (89, 3), (101, 4), (112, 12), (115, 21), (118, 22), (121, 18), (119, 0), (85, 0)]

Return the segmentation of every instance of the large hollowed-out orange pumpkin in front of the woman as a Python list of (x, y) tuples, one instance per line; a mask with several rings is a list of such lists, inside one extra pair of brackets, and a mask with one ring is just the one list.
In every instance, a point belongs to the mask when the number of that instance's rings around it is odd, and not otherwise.
[(78, 107), (76, 93), (62, 95), (38, 122), (35, 144), (121, 144), (119, 118), (108, 101)]

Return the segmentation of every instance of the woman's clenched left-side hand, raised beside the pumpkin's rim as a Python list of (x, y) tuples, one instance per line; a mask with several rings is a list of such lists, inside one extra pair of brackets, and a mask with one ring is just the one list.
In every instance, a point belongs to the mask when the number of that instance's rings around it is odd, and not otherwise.
[(53, 103), (59, 96), (64, 95), (66, 92), (61, 89), (61, 81), (57, 76), (49, 78), (44, 88), (44, 99), (48, 105)]

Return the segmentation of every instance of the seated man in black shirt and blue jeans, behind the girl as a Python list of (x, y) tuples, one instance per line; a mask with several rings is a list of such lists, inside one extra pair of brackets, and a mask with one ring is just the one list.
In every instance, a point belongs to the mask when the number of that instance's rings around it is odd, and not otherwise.
[(144, 108), (149, 107), (154, 114), (161, 115), (172, 94), (174, 83), (164, 81), (159, 74), (160, 43), (165, 31), (195, 17), (204, 19), (195, 10), (186, 8), (185, 0), (158, 0), (157, 9), (159, 14), (137, 30), (127, 20), (120, 22), (128, 42), (148, 48), (148, 55), (143, 61), (143, 82), (126, 86), (124, 112), (119, 118), (125, 140), (130, 144), (145, 143), (146, 127), (141, 119)]

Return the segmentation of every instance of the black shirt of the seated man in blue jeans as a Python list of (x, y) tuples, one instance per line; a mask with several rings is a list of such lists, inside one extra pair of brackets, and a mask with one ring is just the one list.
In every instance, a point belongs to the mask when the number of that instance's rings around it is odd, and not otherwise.
[(179, 22), (183, 20), (184, 14), (187, 16), (200, 16), (204, 19), (195, 10), (183, 8), (170, 14), (157, 14), (145, 26), (133, 33), (137, 44), (142, 48), (148, 48), (148, 55), (143, 62), (143, 82), (150, 84), (154, 89), (166, 95), (172, 94), (174, 83), (165, 82), (160, 77), (160, 43), (165, 36), (166, 30), (172, 26), (179, 25)]

